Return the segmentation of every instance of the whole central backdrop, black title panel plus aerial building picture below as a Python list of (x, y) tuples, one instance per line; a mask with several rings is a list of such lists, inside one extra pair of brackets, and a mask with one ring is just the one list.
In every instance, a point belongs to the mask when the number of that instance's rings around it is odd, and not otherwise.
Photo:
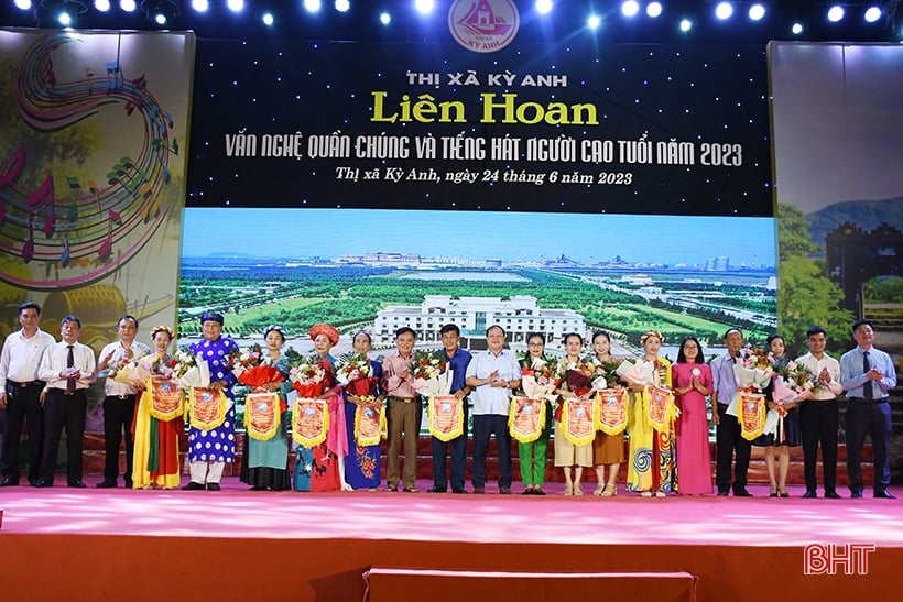
[(776, 327), (761, 46), (202, 40), (198, 65), (185, 338), (208, 308), (302, 352), (317, 321), (336, 353), (363, 328), (377, 355), (446, 322), (550, 353), (605, 329), (620, 355), (655, 328), (672, 358)]

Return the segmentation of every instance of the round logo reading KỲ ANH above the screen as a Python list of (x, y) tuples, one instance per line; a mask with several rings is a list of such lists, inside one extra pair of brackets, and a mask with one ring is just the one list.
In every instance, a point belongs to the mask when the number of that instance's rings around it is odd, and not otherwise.
[(518, 35), (520, 23), (512, 0), (455, 0), (448, 9), (452, 36), (474, 52), (502, 50)]

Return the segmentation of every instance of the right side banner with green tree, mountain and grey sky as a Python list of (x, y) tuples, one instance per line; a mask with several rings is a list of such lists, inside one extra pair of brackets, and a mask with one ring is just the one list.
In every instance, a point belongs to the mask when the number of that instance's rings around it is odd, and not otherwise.
[(772, 43), (780, 317), (792, 352), (813, 324), (831, 352), (856, 318), (903, 352), (903, 47)]

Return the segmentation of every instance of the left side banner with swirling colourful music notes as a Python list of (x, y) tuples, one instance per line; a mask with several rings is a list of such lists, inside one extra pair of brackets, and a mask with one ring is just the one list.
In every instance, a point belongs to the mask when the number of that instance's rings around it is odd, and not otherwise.
[(191, 33), (0, 31), (0, 333), (24, 300), (57, 338), (78, 316), (95, 351), (123, 314), (174, 324), (194, 51)]

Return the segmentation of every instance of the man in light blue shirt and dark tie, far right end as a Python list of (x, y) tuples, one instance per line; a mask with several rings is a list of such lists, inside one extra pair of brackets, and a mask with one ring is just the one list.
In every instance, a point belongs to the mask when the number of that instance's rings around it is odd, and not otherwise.
[(850, 497), (862, 497), (862, 445), (872, 440), (874, 497), (894, 499), (888, 448), (891, 442), (891, 406), (888, 392), (896, 386), (891, 357), (875, 349), (874, 328), (869, 320), (852, 325), (857, 347), (840, 358), (840, 384), (847, 390), (847, 474)]

